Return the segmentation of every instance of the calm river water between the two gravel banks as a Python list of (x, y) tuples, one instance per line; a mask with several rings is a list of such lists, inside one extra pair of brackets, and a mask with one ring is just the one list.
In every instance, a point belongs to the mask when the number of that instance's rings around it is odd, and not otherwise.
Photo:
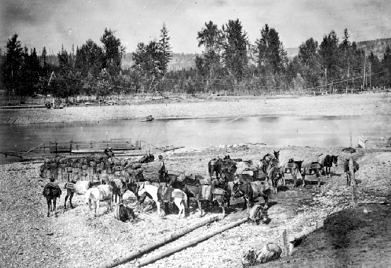
[[(357, 136), (391, 136), (390, 116), (237, 117), (191, 120), (110, 120), (0, 125), (0, 151), (27, 151), (49, 141), (142, 140), (196, 148), (259, 142), (270, 146), (353, 146)], [(142, 143), (143, 144), (143, 143)], [(0, 156), (0, 163), (16, 158)]]

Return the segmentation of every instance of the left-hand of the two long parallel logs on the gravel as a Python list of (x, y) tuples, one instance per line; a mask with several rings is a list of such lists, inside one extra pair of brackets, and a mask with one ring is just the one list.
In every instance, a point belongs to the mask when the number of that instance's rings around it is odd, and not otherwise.
[(197, 229), (197, 228), (204, 226), (208, 223), (218, 221), (221, 219), (223, 219), (223, 215), (215, 215), (215, 216), (211, 216), (209, 218), (203, 219), (202, 221), (199, 221), (198, 223), (194, 223), (190, 226), (187, 226), (180, 231), (177, 231), (175, 233), (171, 233), (170, 235), (166, 235), (161, 240), (156, 241), (156, 243), (141, 247), (139, 250), (133, 250), (128, 255), (125, 255), (124, 257), (116, 257), (114, 260), (111, 260), (111, 261), (103, 264), (101, 266), (101, 268), (116, 267), (117, 265), (123, 264), (124, 262), (129, 262), (129, 261), (133, 260), (134, 258), (136, 258), (140, 255), (143, 255), (148, 251), (155, 249), (156, 247), (160, 247), (161, 245), (165, 245), (166, 243), (170, 242), (171, 240), (175, 240), (177, 238), (180, 238), (182, 235), (185, 235), (185, 234), (193, 231), (194, 229)]

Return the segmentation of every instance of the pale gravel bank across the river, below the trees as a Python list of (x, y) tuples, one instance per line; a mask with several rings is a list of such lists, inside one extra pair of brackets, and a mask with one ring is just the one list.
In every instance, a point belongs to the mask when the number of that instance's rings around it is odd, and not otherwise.
[(64, 109), (0, 109), (0, 124), (97, 122), (250, 116), (357, 116), (391, 115), (391, 93), (272, 96), (233, 100), (160, 100), (143, 105), (66, 107)]

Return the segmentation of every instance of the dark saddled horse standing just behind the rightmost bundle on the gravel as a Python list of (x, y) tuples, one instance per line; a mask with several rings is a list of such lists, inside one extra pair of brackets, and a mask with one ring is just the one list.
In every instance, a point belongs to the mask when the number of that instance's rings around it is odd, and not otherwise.
[(264, 209), (269, 207), (270, 188), (267, 182), (233, 182), (233, 197), (243, 197), (245, 203), (243, 209), (247, 204), (247, 214), (250, 214), (251, 203), (257, 197), (264, 198)]

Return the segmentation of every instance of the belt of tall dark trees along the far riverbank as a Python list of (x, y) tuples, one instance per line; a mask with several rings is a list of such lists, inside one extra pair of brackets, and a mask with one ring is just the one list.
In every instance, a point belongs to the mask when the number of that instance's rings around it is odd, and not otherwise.
[[(238, 19), (221, 27), (204, 23), (194, 40), (203, 49), (201, 54), (182, 54), (173, 60), (163, 24), (158, 39), (139, 42), (130, 60), (115, 30), (107, 28), (100, 44), (89, 39), (71, 51), (62, 47), (55, 57), (47, 55), (45, 47), (40, 55), (35, 48), (22, 47), (14, 34), (2, 57), (1, 82), (8, 95), (58, 98), (147, 91), (262, 95), (391, 86), (388, 40), (379, 41), (385, 45), (382, 55), (366, 55), (364, 49), (371, 43), (351, 42), (346, 29), (341, 38), (331, 30), (320, 43), (312, 37), (305, 40), (291, 59), (277, 30), (267, 24), (259, 29), (254, 44)], [(194, 67), (181, 67), (189, 61)]]

